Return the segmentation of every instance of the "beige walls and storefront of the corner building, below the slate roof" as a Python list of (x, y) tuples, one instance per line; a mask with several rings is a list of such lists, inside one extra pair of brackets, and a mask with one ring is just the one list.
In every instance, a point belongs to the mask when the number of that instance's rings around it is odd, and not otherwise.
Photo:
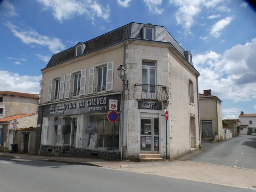
[[(166, 90), (166, 100), (137, 99), (145, 94), (145, 88), (140, 92), (137, 86), (143, 84), (143, 69), (147, 68), (145, 64), (143, 66), (143, 62), (153, 65), (149, 68), (154, 71), (154, 85), (164, 87), (161, 91)], [(108, 63), (113, 65), (112, 89), (99, 91), (99, 70)], [(120, 65), (125, 68), (123, 78), (128, 81), (127, 85), (118, 76), (117, 69)], [(170, 43), (128, 39), (74, 56), (41, 71), (37, 136), (40, 138), (38, 148), (42, 155), (58, 156), (72, 151), (74, 156), (93, 154), (99, 158), (109, 158), (106, 140), (111, 134), (115, 135), (113, 150), (116, 159), (138, 159), (142, 153), (160, 154), (163, 158), (174, 159), (200, 146), (197, 91), (199, 73)], [(85, 92), (72, 96), (69, 91), (74, 86), (75, 74), (80, 71), (85, 73)], [(93, 80), (90, 79), (92, 73)], [(68, 74), (71, 74), (70, 90), (67, 88)], [(65, 76), (62, 90), (64, 97), (56, 99), (53, 97), (54, 79), (61, 76)], [(93, 92), (89, 91), (90, 86), (93, 87)], [(156, 97), (155, 89), (152, 95)], [(118, 106), (114, 109), (119, 115), (115, 123), (107, 118), (108, 112), (112, 110), (108, 105), (110, 100), (112, 102), (112, 97), (115, 97)], [(165, 110), (169, 112), (167, 123), (163, 116)], [(67, 124), (68, 121), (71, 123)], [(94, 124), (97, 125), (97, 130), (92, 131), (91, 126)], [(142, 125), (150, 126), (151, 130), (142, 131)], [(114, 133), (111, 130), (113, 126)], [(103, 132), (100, 131), (102, 127)], [(152, 150), (148, 150), (148, 145), (152, 146)]]

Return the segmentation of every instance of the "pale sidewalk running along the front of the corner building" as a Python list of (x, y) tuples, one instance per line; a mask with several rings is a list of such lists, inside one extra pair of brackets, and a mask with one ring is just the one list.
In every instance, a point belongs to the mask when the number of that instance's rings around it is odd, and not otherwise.
[(63, 156), (37, 156), (7, 152), (0, 153), (0, 156), (37, 161), (92, 165), (122, 171), (138, 172), (144, 174), (256, 190), (256, 170), (189, 161), (189, 159), (191, 159), (195, 155), (198, 155), (199, 153), (201, 153), (201, 151), (190, 153), (186, 156), (179, 158), (179, 160), (162, 162), (113, 162), (102, 159)]

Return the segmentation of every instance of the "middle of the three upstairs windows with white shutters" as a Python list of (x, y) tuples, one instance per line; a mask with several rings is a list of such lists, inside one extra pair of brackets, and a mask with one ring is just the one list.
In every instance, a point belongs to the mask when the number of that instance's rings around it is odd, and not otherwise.
[[(67, 75), (65, 98), (85, 95), (86, 69), (82, 69)], [(71, 88), (70, 88), (71, 85)]]

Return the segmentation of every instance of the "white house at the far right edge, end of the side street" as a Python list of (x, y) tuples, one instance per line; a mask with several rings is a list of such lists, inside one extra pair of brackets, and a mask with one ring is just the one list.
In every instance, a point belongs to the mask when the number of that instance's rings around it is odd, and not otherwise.
[(244, 111), (241, 111), (238, 119), (240, 135), (256, 135), (256, 113), (244, 114)]

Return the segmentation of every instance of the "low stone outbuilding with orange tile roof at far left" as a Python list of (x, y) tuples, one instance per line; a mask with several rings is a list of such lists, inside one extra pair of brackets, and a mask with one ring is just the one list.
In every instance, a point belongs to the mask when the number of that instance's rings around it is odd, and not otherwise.
[(0, 151), (12, 150), (12, 144), (17, 144), (17, 152), (34, 153), (36, 122), (37, 113), (0, 119)]

